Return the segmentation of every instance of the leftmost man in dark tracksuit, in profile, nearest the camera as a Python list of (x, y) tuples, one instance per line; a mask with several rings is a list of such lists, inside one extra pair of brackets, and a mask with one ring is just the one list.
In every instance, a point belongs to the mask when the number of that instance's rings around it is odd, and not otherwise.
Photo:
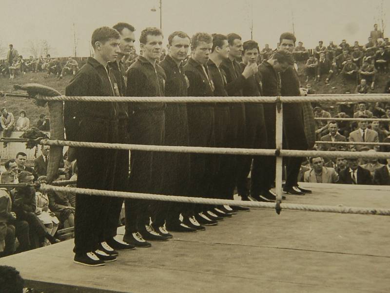
[[(67, 96), (114, 96), (115, 76), (107, 63), (119, 52), (119, 33), (101, 27), (92, 35), (94, 58), (78, 71), (65, 89)], [(64, 124), (70, 141), (94, 143), (118, 142), (118, 104), (104, 102), (65, 102)], [(77, 149), (78, 188), (114, 190), (116, 151), (113, 149)], [(102, 266), (104, 261), (116, 260), (102, 247), (104, 225), (108, 218), (111, 198), (76, 195), (74, 261), (87, 266)]]

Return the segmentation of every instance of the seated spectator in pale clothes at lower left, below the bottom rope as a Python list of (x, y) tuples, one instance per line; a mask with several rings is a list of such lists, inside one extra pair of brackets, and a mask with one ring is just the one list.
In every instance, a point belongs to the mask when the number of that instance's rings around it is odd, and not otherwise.
[[(46, 183), (46, 176), (40, 176), (37, 180), (38, 183)], [(49, 198), (46, 192), (36, 191), (36, 201), (37, 201), (37, 210), (39, 220), (46, 227), (46, 231), (54, 236), (57, 232), (59, 220), (56, 217), (56, 214), (49, 209)], [(50, 245), (49, 240), (45, 239), (43, 246)]]

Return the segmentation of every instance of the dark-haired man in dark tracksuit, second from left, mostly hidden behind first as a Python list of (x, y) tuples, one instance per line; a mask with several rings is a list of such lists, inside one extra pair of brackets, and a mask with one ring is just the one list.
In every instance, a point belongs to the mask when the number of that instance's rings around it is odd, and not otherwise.
[[(114, 83), (114, 91), (117, 96), (124, 96), (126, 94), (126, 84), (123, 77), (124, 64), (121, 59), (123, 56), (128, 56), (131, 53), (133, 44), (135, 42), (134, 31), (135, 28), (124, 22), (119, 22), (113, 27), (119, 32), (120, 43), (119, 49), (120, 53), (117, 56), (117, 60), (110, 62), (110, 71), (115, 75), (116, 83)], [(119, 103), (118, 108), (118, 143), (127, 144), (129, 142), (128, 138), (128, 104)], [(117, 166), (116, 166), (116, 176), (114, 182), (114, 188), (117, 191), (126, 191), (128, 180), (129, 180), (129, 151), (128, 150), (117, 150)], [(130, 204), (130, 200), (125, 200), (125, 206)], [(105, 235), (107, 239), (107, 244), (112, 247), (114, 250), (131, 250), (135, 246), (127, 244), (119, 239), (116, 239), (117, 227), (119, 222), (119, 215), (122, 210), (123, 198), (113, 197), (111, 199), (111, 204), (109, 208), (109, 218), (105, 226)], [(129, 206), (127, 207), (129, 209)]]

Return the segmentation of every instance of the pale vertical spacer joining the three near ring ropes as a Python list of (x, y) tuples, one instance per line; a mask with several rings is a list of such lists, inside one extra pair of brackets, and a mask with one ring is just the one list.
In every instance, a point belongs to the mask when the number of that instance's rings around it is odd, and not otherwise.
[(283, 157), (280, 156), (280, 150), (282, 149), (283, 142), (283, 104), (280, 101), (280, 97), (276, 98), (276, 176), (275, 176), (275, 189), (276, 189), (276, 213), (280, 214), (282, 203), (282, 173), (283, 173)]

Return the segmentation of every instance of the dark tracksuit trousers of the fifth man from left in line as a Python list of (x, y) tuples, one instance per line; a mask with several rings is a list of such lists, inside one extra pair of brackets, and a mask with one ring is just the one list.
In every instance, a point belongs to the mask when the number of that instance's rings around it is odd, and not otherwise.
[[(215, 146), (214, 106), (188, 105), (188, 131), (190, 146)], [(211, 154), (190, 154), (191, 184), (189, 195), (193, 197), (208, 197), (215, 174), (215, 165)], [(205, 209), (196, 205), (195, 212)]]

